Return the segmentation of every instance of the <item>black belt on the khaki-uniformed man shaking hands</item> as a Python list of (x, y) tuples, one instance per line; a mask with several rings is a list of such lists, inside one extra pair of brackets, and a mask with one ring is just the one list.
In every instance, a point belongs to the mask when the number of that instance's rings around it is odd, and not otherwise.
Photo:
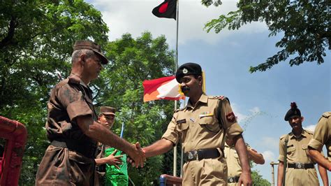
[(216, 158), (220, 157), (221, 153), (216, 148), (207, 148), (207, 149), (199, 149), (199, 150), (191, 150), (184, 154), (186, 162), (192, 160), (201, 160), (208, 158)]

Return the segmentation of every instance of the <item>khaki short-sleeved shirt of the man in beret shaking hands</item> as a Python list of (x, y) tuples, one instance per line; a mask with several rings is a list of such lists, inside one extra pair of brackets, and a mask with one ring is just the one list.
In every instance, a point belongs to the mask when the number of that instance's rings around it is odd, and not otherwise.
[(174, 113), (162, 138), (175, 144), (181, 139), (184, 152), (205, 148), (223, 149), (224, 130), (229, 138), (242, 134), (243, 131), (228, 99), (215, 99), (202, 94), (195, 106), (189, 101), (186, 108)]

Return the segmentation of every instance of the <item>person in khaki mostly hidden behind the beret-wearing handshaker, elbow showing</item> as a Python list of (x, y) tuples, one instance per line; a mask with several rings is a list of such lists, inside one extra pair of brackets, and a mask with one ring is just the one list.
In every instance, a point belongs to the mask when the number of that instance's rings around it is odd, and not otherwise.
[[(251, 148), (248, 144), (246, 145), (249, 160), (256, 164), (265, 164), (263, 155)], [(228, 138), (226, 138), (224, 155), (226, 157), (226, 164), (228, 164), (228, 186), (236, 186), (238, 185), (238, 180), (242, 174), (242, 166), (237, 151), (235, 150), (235, 146), (233, 145), (233, 141)]]

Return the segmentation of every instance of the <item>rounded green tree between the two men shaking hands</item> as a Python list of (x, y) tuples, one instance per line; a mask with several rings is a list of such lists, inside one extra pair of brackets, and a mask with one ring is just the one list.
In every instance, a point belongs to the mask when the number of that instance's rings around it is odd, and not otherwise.
[[(174, 101), (143, 102), (143, 80), (172, 76), (174, 52), (164, 36), (152, 38), (149, 32), (138, 38), (124, 34), (105, 48), (110, 64), (94, 82), (96, 106), (113, 106), (119, 110), (113, 131), (119, 134), (125, 124), (124, 138), (131, 143), (149, 145), (161, 138), (171, 120)], [(128, 174), (135, 185), (157, 183), (161, 173), (169, 173), (164, 164), (171, 152), (147, 159), (144, 168), (129, 166)], [(171, 157), (170, 157), (171, 159)]]

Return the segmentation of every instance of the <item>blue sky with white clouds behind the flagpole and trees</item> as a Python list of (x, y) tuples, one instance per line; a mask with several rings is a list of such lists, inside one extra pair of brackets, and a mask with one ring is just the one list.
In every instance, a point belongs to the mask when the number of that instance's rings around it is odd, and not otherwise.
[[(150, 31), (154, 38), (165, 35), (170, 48), (175, 50), (175, 20), (158, 18), (151, 13), (163, 0), (87, 2), (103, 14), (110, 28), (110, 41), (125, 33), (136, 38), (143, 31)], [(228, 96), (245, 129), (245, 141), (266, 159), (264, 165), (253, 169), (271, 182), (270, 162), (277, 162), (279, 136), (291, 130), (284, 121), (290, 102), (297, 103), (305, 118), (303, 126), (311, 130), (321, 114), (331, 110), (331, 52), (327, 51), (325, 63), (321, 65), (313, 62), (290, 67), (288, 62), (281, 62), (265, 72), (249, 73), (249, 66), (256, 66), (279, 51), (274, 45), (281, 34), (269, 38), (263, 22), (219, 34), (203, 30), (208, 20), (235, 10), (236, 2), (227, 0), (219, 7), (206, 8), (200, 1), (179, 0), (179, 65), (200, 64), (206, 73), (207, 94)], [(328, 175), (330, 180), (330, 172)]]

